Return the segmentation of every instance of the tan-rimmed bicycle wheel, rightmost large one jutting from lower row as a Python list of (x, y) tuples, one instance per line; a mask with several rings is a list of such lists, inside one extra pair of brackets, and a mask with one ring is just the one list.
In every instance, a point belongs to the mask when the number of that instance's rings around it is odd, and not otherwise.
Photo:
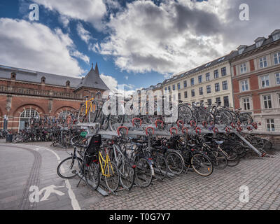
[(196, 153), (190, 159), (193, 170), (200, 176), (209, 176), (213, 173), (213, 165), (207, 155)]

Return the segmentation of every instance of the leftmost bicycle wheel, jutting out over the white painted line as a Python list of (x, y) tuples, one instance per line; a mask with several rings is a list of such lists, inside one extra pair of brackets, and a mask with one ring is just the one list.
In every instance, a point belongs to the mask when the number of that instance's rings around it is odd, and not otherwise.
[(80, 158), (66, 158), (59, 163), (57, 167), (57, 174), (63, 179), (72, 179), (73, 177), (78, 175), (80, 170), (78, 166), (78, 162), (82, 163)]

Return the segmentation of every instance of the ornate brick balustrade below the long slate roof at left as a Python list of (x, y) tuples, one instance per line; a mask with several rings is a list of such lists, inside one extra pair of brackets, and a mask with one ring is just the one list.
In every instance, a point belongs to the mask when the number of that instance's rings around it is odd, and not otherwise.
[(83, 99), (83, 97), (80, 94), (75, 94), (75, 93), (71, 93), (71, 92), (54, 92), (52, 90), (24, 89), (24, 88), (20, 88), (20, 87), (6, 87), (3, 85), (0, 85), (0, 92), (10, 93), (10, 94), (41, 96), (41, 97)]

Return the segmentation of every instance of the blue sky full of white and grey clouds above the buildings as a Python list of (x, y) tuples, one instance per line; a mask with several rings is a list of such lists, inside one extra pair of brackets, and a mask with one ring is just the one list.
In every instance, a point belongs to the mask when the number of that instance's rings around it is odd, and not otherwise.
[[(37, 3), (39, 20), (29, 20)], [(241, 3), (249, 20), (239, 20)], [(0, 64), (136, 90), (280, 29), (279, 0), (1, 0)]]

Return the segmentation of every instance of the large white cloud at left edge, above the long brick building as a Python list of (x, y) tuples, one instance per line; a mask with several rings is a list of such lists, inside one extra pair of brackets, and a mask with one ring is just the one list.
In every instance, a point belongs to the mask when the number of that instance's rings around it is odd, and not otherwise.
[(0, 18), (0, 43), (0, 64), (65, 76), (84, 72), (71, 57), (73, 41), (61, 29), (52, 31), (40, 23)]

